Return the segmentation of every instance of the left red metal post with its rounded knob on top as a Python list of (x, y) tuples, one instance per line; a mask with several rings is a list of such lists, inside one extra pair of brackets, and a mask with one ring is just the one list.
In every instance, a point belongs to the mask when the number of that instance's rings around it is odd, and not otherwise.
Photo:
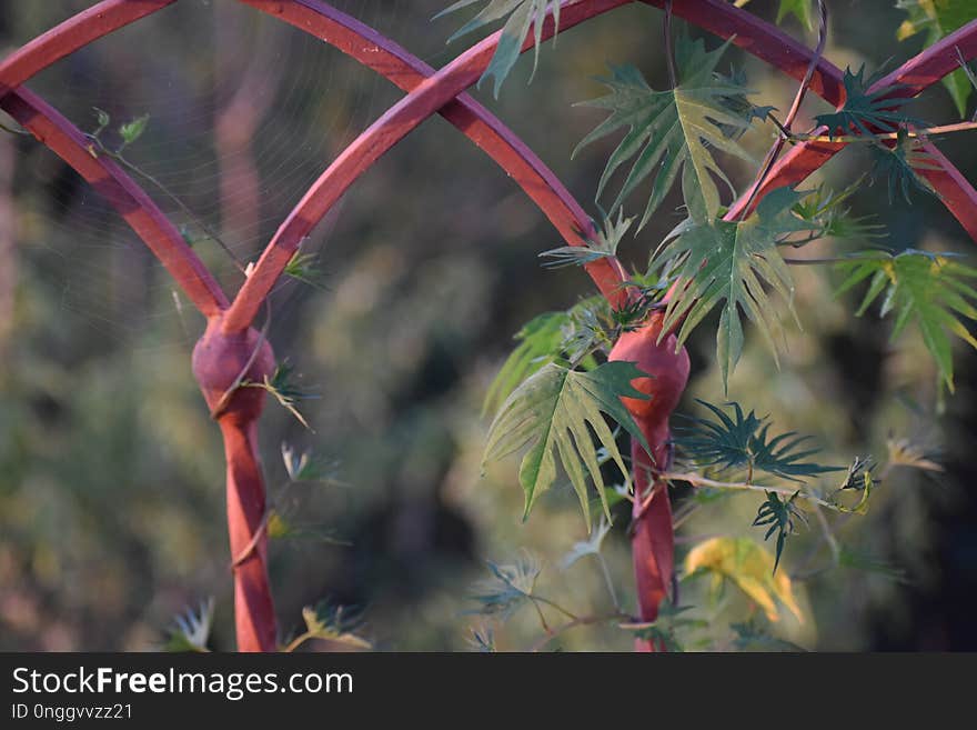
[(210, 320), (193, 349), (193, 374), (224, 438), (239, 651), (278, 648), (268, 579), (264, 478), (258, 453), (258, 419), (265, 393), (260, 388), (240, 387), (242, 382), (262, 382), (273, 369), (274, 354), (261, 333), (254, 329), (226, 333), (220, 317)]

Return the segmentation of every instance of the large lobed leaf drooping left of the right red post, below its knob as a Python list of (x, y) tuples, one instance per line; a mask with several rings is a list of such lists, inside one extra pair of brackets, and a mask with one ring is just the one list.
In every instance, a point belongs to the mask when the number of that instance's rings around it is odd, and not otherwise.
[(512, 392), (492, 422), (483, 464), (530, 447), (520, 466), (520, 483), (526, 497), (523, 519), (528, 517), (536, 498), (556, 481), (556, 457), (580, 499), (587, 531), (587, 474), (594, 480), (605, 516), (611, 519), (601, 458), (591, 432), (628, 479), (604, 413), (647, 449), (645, 437), (621, 402), (622, 397), (646, 399), (631, 384), (635, 378), (645, 377), (633, 362), (606, 362), (591, 372), (550, 363)]

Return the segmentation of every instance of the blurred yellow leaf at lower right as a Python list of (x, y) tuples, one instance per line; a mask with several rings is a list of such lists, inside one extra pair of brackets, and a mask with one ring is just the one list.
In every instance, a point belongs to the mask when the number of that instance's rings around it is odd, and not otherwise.
[(685, 570), (688, 574), (703, 570), (733, 581), (770, 621), (780, 618), (776, 598), (804, 622), (790, 579), (783, 570), (774, 574), (774, 556), (748, 538), (713, 538), (697, 544), (685, 559)]

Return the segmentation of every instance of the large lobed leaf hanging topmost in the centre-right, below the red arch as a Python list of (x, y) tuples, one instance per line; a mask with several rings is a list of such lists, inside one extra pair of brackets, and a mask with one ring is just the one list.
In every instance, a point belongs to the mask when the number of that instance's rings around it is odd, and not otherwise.
[[(734, 139), (735, 132), (749, 127), (749, 113), (737, 113), (731, 104), (742, 100), (745, 90), (716, 73), (726, 48), (707, 52), (702, 40), (687, 36), (677, 39), (675, 56), (678, 86), (667, 91), (655, 91), (641, 71), (631, 66), (612, 67), (608, 79), (602, 79), (611, 93), (583, 102), (583, 106), (606, 109), (611, 116), (577, 146), (574, 156), (584, 147), (622, 128), (627, 133), (611, 154), (597, 186), (597, 197), (614, 173), (629, 160), (631, 171), (611, 210), (614, 211), (642, 182), (654, 176), (652, 192), (642, 216), (638, 230), (644, 228), (662, 204), (668, 190), (685, 170), (695, 184), (689, 188), (686, 203), (714, 218), (719, 209), (719, 191), (713, 176), (732, 183), (713, 158), (719, 150), (753, 162), (751, 156)], [(731, 131), (733, 134), (731, 136)], [(694, 200), (688, 196), (694, 194)]]

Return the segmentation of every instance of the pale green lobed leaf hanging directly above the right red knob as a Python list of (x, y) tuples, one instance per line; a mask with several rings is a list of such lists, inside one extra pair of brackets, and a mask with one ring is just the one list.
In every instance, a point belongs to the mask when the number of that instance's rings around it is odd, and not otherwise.
[[(683, 177), (684, 191), (694, 184), (691, 176)], [(767, 289), (777, 292), (793, 313), (794, 281), (777, 244), (789, 233), (812, 227), (793, 212), (798, 199), (799, 194), (789, 188), (779, 188), (743, 221), (696, 220), (693, 213), (668, 234), (652, 261), (653, 268), (672, 264), (678, 278), (687, 282), (668, 301), (662, 328), (668, 332), (681, 322), (678, 344), (724, 302), (716, 333), (724, 388), (728, 388), (729, 373), (743, 353), (741, 310), (758, 327), (777, 357), (783, 331)]]

